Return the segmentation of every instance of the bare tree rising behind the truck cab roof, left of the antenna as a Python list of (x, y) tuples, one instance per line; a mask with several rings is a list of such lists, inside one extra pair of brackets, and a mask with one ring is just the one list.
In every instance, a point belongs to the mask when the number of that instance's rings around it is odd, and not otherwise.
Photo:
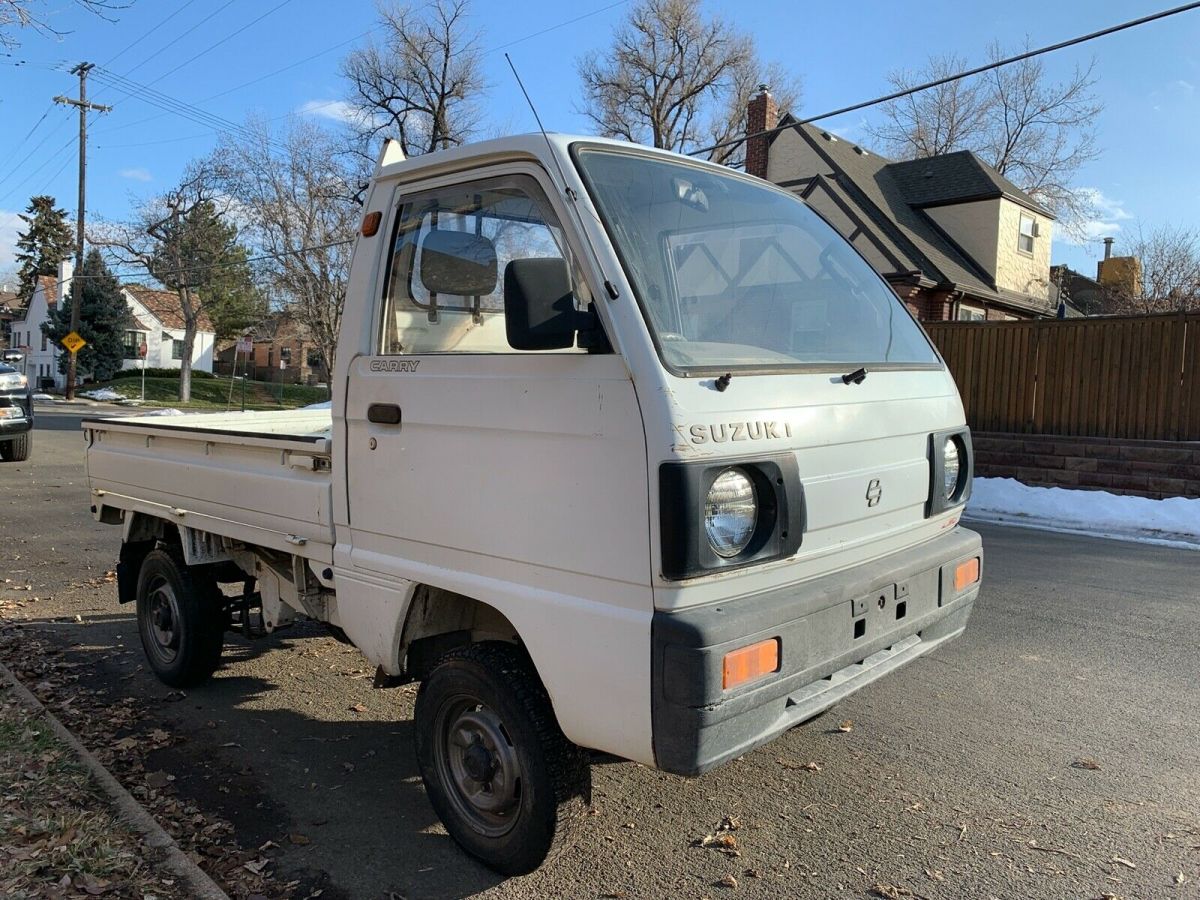
[(416, 156), (457, 146), (478, 131), (486, 84), (468, 12), (468, 0), (380, 4), (382, 36), (342, 62), (354, 127), (366, 143), (394, 137)]

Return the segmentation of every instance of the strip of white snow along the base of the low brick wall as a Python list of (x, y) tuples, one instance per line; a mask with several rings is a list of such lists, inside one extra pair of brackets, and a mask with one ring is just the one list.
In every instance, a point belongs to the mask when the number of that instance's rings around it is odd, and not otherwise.
[(1127, 497), (977, 478), (966, 516), (979, 522), (1200, 550), (1200, 498)]

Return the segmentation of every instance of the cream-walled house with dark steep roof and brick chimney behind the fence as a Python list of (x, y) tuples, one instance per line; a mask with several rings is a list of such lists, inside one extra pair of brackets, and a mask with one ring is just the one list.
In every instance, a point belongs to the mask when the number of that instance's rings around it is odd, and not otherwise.
[(762, 88), (746, 109), (746, 172), (793, 191), (919, 319), (1028, 319), (1050, 295), (1054, 216), (968, 150), (893, 162), (791, 115)]

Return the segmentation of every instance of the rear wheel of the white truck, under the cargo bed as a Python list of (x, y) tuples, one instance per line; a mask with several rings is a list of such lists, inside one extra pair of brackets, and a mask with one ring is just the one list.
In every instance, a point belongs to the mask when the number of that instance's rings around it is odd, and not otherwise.
[(158, 680), (191, 688), (221, 664), (226, 616), (216, 582), (168, 550), (151, 550), (138, 575), (138, 635)]

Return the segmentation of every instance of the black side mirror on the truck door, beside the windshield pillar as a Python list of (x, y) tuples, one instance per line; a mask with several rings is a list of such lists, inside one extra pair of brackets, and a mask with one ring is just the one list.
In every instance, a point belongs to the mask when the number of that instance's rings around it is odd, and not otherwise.
[(562, 259), (514, 259), (504, 268), (504, 328), (516, 350), (563, 350), (595, 317), (575, 308)]

